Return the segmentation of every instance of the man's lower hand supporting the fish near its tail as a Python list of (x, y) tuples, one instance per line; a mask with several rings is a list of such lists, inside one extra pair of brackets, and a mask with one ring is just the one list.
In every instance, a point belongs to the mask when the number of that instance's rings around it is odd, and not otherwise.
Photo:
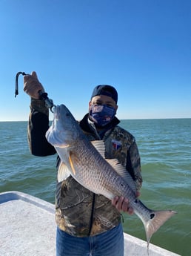
[[(136, 196), (140, 196), (139, 191), (137, 192)], [(133, 208), (130, 207), (129, 200), (126, 197), (114, 197), (112, 200), (112, 204), (118, 211), (124, 211), (130, 215), (133, 214)]]

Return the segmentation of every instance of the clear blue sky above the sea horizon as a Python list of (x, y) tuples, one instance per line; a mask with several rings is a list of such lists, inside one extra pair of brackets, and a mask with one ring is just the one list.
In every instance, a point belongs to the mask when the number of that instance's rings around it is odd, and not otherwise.
[(190, 0), (1, 0), (0, 121), (27, 120), (19, 71), (36, 70), (76, 119), (93, 88), (118, 90), (118, 118), (191, 117)]

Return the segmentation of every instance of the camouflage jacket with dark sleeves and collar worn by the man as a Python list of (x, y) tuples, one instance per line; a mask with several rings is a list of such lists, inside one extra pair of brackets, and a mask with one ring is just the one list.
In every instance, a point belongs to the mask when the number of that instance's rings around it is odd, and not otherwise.
[[(48, 111), (44, 102), (32, 99), (28, 125), (30, 151), (34, 155), (55, 154), (44, 134), (48, 128)], [(82, 131), (89, 140), (104, 140), (107, 158), (116, 158), (127, 168), (137, 189), (141, 188), (141, 163), (135, 138), (118, 126), (115, 117), (102, 134), (98, 134), (88, 122), (88, 114), (79, 122)], [(60, 165), (57, 157), (57, 170)], [(87, 190), (73, 177), (56, 185), (56, 223), (61, 230), (76, 237), (87, 237), (113, 229), (121, 222), (121, 214), (112, 206), (111, 201), (101, 194)]]

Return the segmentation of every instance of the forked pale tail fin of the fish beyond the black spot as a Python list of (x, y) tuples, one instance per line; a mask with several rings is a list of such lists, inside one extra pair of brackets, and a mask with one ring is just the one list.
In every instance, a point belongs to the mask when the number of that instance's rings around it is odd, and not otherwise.
[(176, 211), (150, 211), (150, 220), (145, 222), (144, 229), (147, 235), (147, 249), (149, 249), (149, 243), (152, 235), (168, 220), (172, 215), (176, 214)]

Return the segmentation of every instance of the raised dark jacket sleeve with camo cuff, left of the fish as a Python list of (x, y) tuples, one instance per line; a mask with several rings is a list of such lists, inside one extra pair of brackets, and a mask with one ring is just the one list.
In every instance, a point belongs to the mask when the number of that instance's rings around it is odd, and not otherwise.
[(47, 142), (45, 134), (49, 128), (49, 110), (44, 101), (32, 99), (28, 122), (28, 143), (31, 154), (44, 157), (56, 154), (55, 148)]

